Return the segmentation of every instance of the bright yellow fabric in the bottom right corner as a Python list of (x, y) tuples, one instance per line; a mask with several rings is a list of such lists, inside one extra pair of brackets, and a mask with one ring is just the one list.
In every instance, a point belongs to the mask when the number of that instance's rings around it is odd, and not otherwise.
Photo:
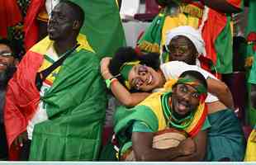
[(244, 161), (246, 162), (256, 161), (256, 130), (255, 129), (249, 135)]

